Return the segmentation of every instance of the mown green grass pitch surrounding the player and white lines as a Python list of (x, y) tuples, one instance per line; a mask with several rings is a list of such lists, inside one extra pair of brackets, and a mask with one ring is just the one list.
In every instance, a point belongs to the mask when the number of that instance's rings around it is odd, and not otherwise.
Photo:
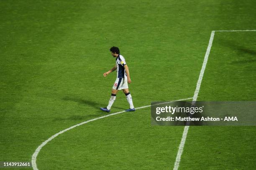
[[(193, 97), (212, 30), (256, 30), (254, 0), (0, 2), (0, 161), (31, 161), (52, 135), (107, 115), (120, 48), (135, 107)], [(215, 32), (197, 100), (256, 100), (256, 32)], [(111, 113), (127, 109), (118, 92)], [(170, 170), (184, 127), (150, 107), (51, 140), (39, 170)], [(190, 127), (180, 170), (253, 170), (256, 128)], [(12, 168), (8, 168), (11, 170)], [(17, 169), (17, 168), (13, 168)], [(32, 168), (18, 168), (32, 169)]]

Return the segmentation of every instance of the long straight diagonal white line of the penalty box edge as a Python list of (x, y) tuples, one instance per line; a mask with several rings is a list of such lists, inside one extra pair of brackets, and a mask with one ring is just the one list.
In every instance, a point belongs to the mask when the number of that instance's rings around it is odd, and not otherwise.
[[(199, 78), (197, 80), (197, 87), (196, 87), (196, 90), (195, 90), (195, 93), (194, 93), (192, 105), (195, 104), (195, 101), (197, 100), (197, 97), (198, 97), (198, 93), (199, 93), (199, 90), (200, 90), (202, 78), (204, 76), (204, 72), (205, 72), (205, 67), (206, 67), (206, 64), (207, 64), (208, 56), (210, 54), (210, 50), (211, 50), (211, 47), (212, 47), (212, 41), (213, 41), (214, 33), (215, 33), (215, 31), (212, 31), (212, 33), (211, 33), (211, 37), (210, 37), (210, 40), (209, 40), (209, 43), (208, 43), (208, 47), (207, 47), (207, 50), (206, 50), (206, 53), (205, 53), (205, 59), (204, 59), (204, 62), (202, 64), (202, 68), (201, 68), (201, 72), (200, 72)], [(182, 134), (182, 140), (181, 140), (181, 142), (179, 144), (179, 150), (178, 150), (178, 153), (177, 153), (177, 156), (176, 156), (176, 160), (175, 160), (175, 164), (174, 164), (173, 170), (178, 170), (178, 168), (179, 168), (179, 162), (180, 162), (180, 158), (181, 158), (181, 155), (182, 155), (182, 152), (183, 152), (183, 148), (184, 148), (184, 145), (185, 145), (185, 142), (186, 142), (188, 130), (189, 130), (189, 126), (185, 126), (183, 134)]]

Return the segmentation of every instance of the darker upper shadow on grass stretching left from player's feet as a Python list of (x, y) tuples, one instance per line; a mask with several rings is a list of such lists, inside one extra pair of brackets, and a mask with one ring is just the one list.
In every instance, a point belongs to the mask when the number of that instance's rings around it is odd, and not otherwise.
[[(106, 107), (106, 105), (108, 105), (108, 103), (103, 104), (103, 103), (95, 102), (95, 101), (92, 101), (92, 100), (84, 100), (84, 99), (75, 98), (75, 97), (63, 97), (63, 100), (78, 102), (78, 103), (81, 103), (81, 104), (84, 104), (84, 105), (95, 107), (98, 110), (100, 110), (100, 107)], [(116, 109), (124, 110), (124, 108), (121, 108), (121, 107), (116, 107), (116, 106), (112, 106), (112, 107), (116, 108)]]

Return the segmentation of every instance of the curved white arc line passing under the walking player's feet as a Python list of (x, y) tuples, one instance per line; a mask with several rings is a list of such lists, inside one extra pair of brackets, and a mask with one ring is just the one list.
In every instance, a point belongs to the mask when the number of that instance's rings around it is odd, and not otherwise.
[[(170, 102), (164, 102), (164, 103), (171, 103), (171, 102), (175, 102), (175, 101), (182, 101), (182, 100), (189, 100), (189, 99), (192, 99), (192, 97), (190, 98), (187, 98), (187, 99), (180, 99), (180, 100), (174, 100), (174, 101), (170, 101)], [(160, 104), (164, 104), (164, 103), (159, 103), (159, 104), (156, 104), (156, 105), (160, 105)], [(145, 107), (150, 107), (151, 105), (147, 105), (147, 106), (142, 106), (142, 107), (137, 107), (135, 108), (136, 110), (137, 109), (142, 109), (142, 108), (145, 108)], [(153, 106), (153, 105), (152, 105)], [(121, 111), (121, 112), (115, 112), (115, 113), (111, 113), (109, 115), (105, 115), (105, 116), (101, 116), (101, 117), (97, 117), (97, 118), (94, 118), (94, 119), (91, 119), (91, 120), (87, 120), (87, 121), (84, 121), (82, 123), (79, 123), (77, 125), (74, 125), (74, 126), (71, 126), (65, 130), (62, 130), (60, 131), (59, 133), (56, 133), (55, 135), (52, 135), (49, 139), (47, 139), (46, 141), (44, 141), (40, 146), (38, 146), (38, 148), (36, 148), (36, 151), (33, 153), (32, 155), (32, 167), (33, 167), (33, 170), (38, 170), (37, 168), (37, 165), (36, 165), (36, 157), (38, 155), (38, 153), (40, 152), (40, 150), (44, 147), (44, 145), (46, 145), (48, 142), (50, 142), (51, 140), (53, 140), (54, 138), (56, 138), (58, 135), (60, 135), (61, 133), (64, 133), (64, 132), (67, 132), (68, 130), (71, 130), (73, 128), (76, 128), (80, 125), (84, 125), (85, 123), (88, 123), (88, 122), (92, 122), (94, 120), (98, 120), (98, 119), (102, 119), (104, 117), (108, 117), (108, 116), (113, 116), (113, 115), (117, 115), (119, 113), (123, 113), (125, 111)]]

